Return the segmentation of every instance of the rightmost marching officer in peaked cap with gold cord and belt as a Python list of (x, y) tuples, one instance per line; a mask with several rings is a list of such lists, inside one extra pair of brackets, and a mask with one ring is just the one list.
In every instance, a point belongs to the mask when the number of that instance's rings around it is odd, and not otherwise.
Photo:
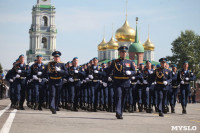
[(155, 81), (156, 81), (156, 89), (158, 93), (158, 108), (159, 108), (159, 116), (163, 117), (163, 102), (165, 99), (163, 98), (164, 91), (166, 90), (167, 85), (169, 85), (172, 81), (171, 72), (166, 69), (166, 58), (161, 58), (159, 60), (161, 67), (155, 70)]

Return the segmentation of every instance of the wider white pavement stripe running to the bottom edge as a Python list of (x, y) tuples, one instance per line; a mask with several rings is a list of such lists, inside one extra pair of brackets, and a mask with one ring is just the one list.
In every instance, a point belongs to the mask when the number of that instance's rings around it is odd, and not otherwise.
[(10, 128), (11, 128), (11, 126), (12, 126), (12, 122), (13, 122), (13, 120), (14, 120), (14, 118), (15, 118), (16, 112), (17, 112), (17, 110), (14, 109), (14, 110), (10, 113), (10, 115), (9, 115), (8, 119), (6, 120), (6, 123), (3, 125), (3, 127), (2, 127), (2, 129), (1, 129), (1, 131), (0, 131), (0, 133), (9, 133), (9, 132), (10, 132)]

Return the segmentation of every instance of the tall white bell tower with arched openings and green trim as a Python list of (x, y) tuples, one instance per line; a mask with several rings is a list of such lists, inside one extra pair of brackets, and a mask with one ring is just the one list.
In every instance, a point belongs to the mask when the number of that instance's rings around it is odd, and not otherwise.
[(55, 13), (51, 0), (37, 0), (33, 6), (30, 44), (26, 52), (28, 63), (33, 62), (38, 54), (42, 54), (44, 60), (52, 59), (51, 54), (56, 50)]

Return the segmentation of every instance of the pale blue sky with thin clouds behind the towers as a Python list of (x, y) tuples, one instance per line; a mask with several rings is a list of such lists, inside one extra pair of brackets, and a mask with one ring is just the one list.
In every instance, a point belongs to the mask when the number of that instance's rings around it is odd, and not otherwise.
[[(9, 69), (29, 49), (28, 30), (37, 0), (0, 0), (0, 63)], [(110, 40), (125, 21), (126, 0), (51, 0), (56, 7), (57, 50), (62, 61), (79, 57), (85, 63), (97, 56), (97, 46)], [(171, 55), (171, 43), (185, 30), (200, 34), (199, 0), (129, 0), (128, 22), (135, 29), (139, 17), (141, 42), (155, 44), (155, 60)]]

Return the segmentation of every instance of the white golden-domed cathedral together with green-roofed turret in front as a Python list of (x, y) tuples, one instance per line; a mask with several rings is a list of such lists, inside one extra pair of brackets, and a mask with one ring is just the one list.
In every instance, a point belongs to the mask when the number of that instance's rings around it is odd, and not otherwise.
[(142, 63), (144, 60), (154, 60), (154, 44), (150, 41), (149, 34), (147, 41), (141, 44), (137, 30), (138, 18), (136, 18), (136, 30), (128, 24), (126, 17), (125, 23), (122, 27), (117, 29), (114, 39), (113, 35), (109, 42), (105, 38), (98, 45), (98, 58), (100, 62), (118, 58), (118, 48), (120, 46), (127, 46), (129, 48), (128, 58), (137, 60), (137, 64)]

